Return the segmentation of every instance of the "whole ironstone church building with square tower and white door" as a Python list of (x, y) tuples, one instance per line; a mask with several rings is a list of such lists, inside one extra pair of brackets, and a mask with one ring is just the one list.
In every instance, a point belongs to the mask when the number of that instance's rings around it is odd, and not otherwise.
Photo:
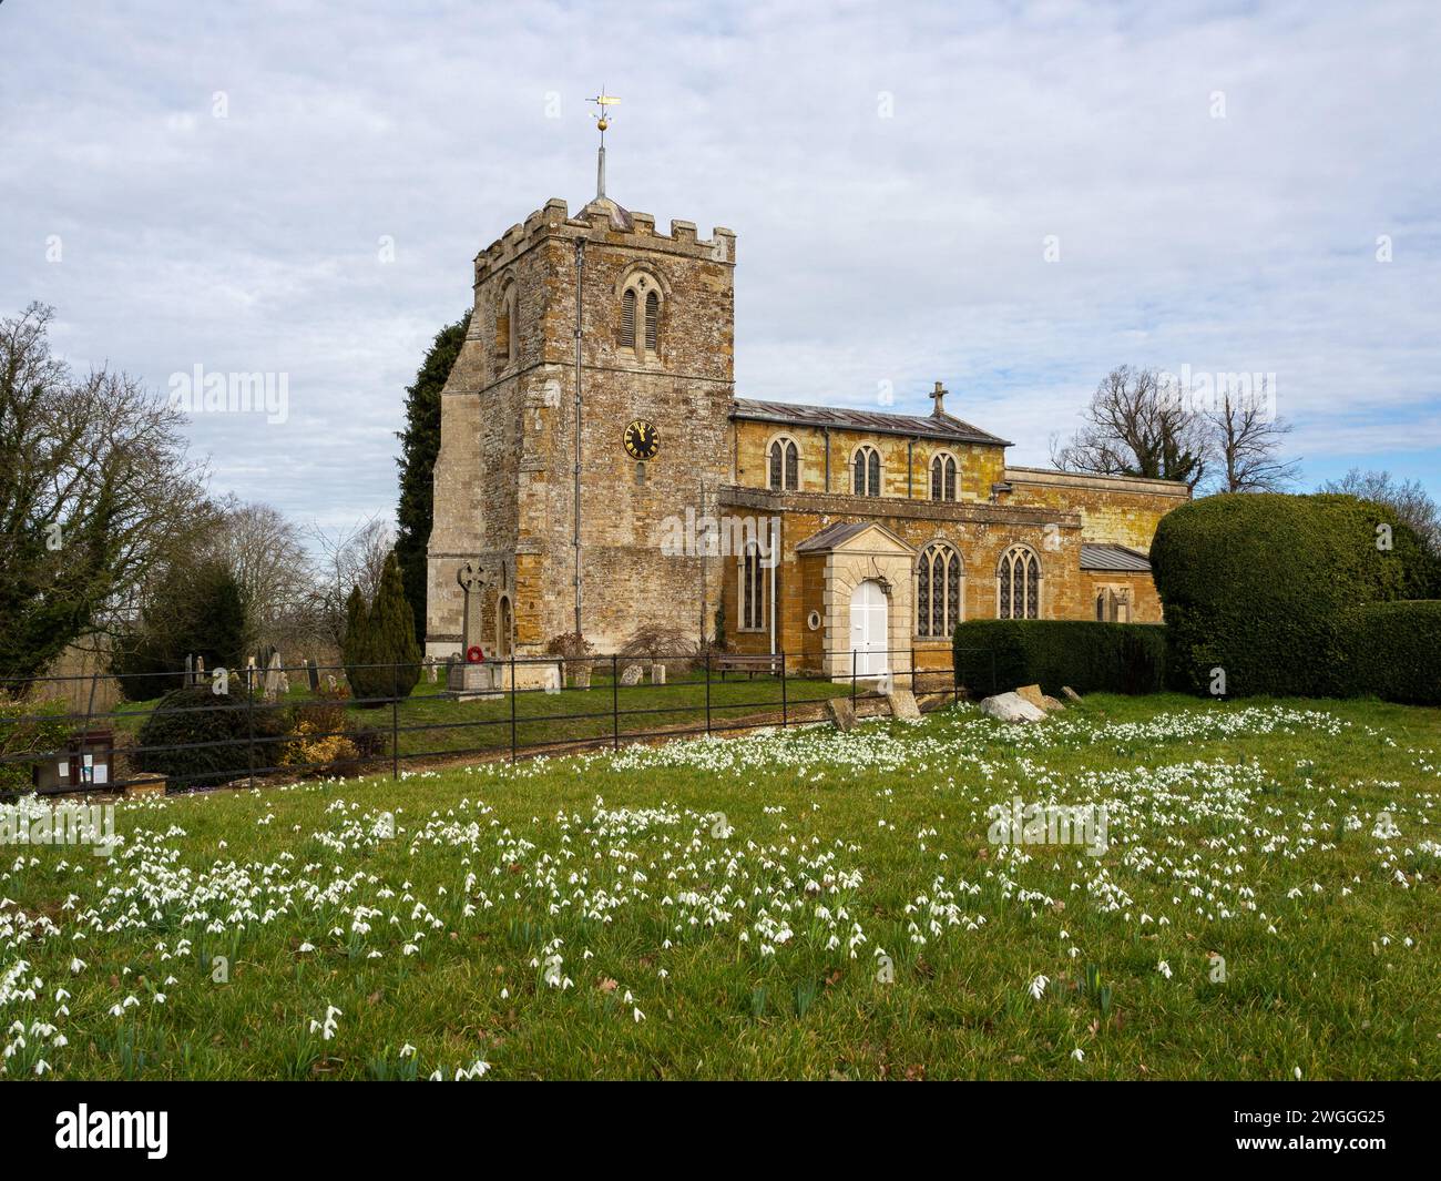
[(965, 619), (1160, 622), (1147, 551), (1186, 485), (1007, 464), (941, 382), (924, 415), (736, 397), (736, 235), (659, 231), (604, 154), (598, 189), (476, 257), (427, 655), (648, 634), (849, 676), (948, 666)]

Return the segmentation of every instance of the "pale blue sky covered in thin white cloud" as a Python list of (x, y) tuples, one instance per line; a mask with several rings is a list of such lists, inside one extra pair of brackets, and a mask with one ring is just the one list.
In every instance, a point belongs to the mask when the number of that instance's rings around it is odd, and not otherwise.
[(1441, 497), (1434, 0), (0, 0), (0, 314), (287, 375), (190, 431), (323, 526), (393, 510), (403, 386), (476, 251), (594, 193), (602, 85), (611, 196), (739, 235), (745, 397), (942, 379), (1045, 463), (1115, 365), (1274, 373), (1307, 487)]

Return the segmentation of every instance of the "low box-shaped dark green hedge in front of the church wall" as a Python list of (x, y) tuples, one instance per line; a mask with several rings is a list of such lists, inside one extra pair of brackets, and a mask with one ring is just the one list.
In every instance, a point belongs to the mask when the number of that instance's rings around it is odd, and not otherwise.
[(1062, 685), (1078, 694), (1166, 686), (1166, 629), (1148, 623), (976, 619), (957, 626), (953, 646), (957, 684), (973, 696), (1020, 685), (1040, 685), (1052, 696)]

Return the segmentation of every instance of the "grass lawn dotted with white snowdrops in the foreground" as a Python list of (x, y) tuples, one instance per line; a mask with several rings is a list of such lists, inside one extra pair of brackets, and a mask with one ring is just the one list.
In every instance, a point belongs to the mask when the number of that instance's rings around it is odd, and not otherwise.
[(1435, 1079), (1438, 820), (1441, 711), (1099, 695), (130, 802), (0, 851), (4, 1070)]

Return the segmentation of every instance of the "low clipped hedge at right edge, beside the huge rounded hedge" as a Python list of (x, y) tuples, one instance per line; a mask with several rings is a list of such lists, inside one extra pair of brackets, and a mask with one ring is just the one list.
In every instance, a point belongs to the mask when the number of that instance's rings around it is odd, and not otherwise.
[(1372, 603), (1346, 619), (1352, 691), (1441, 705), (1441, 600)]

